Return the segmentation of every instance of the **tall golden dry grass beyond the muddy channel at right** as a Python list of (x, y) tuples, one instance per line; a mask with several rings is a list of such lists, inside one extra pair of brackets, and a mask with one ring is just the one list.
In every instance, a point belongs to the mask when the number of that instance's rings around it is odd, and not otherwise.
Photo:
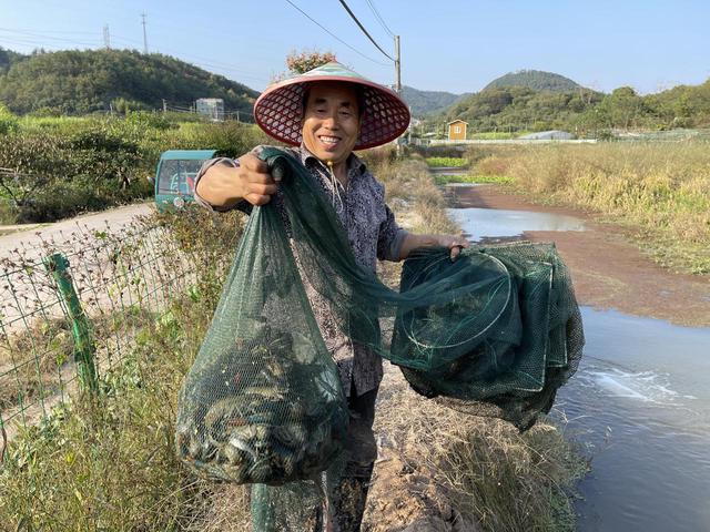
[(540, 201), (597, 212), (677, 270), (710, 273), (710, 145), (519, 146), (477, 163)]

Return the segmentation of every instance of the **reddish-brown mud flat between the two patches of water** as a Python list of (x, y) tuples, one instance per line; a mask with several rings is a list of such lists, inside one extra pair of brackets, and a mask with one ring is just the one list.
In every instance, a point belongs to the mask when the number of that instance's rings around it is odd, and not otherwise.
[(582, 305), (666, 319), (686, 326), (710, 326), (710, 276), (676, 274), (642, 255), (623, 231), (599, 223), (589, 213), (532, 204), (496, 185), (449, 187), (453, 207), (501, 208), (565, 214), (584, 219), (584, 232), (528, 232), (525, 239), (555, 242), (569, 266)]

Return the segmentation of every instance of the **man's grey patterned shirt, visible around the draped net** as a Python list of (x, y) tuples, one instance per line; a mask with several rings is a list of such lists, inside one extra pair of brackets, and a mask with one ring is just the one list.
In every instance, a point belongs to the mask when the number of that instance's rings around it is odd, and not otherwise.
[[(257, 146), (252, 153), (258, 155), (261, 150), (262, 146)], [(303, 145), (285, 151), (308, 168), (326, 196), (331, 198), (337, 217), (347, 233), (355, 259), (362, 267), (375, 272), (377, 259), (398, 260), (407, 232), (395, 222), (394, 214), (385, 204), (385, 187), (375, 180), (365, 163), (355, 154), (349, 155), (347, 183), (343, 186), (327, 166)], [(214, 164), (234, 166), (239, 163), (225, 157), (206, 161), (195, 178), (195, 188), (204, 172)], [(251, 205), (245, 201), (231, 207), (215, 208), (200, 197), (196, 190), (194, 195), (195, 201), (207, 208), (216, 211), (240, 208), (251, 212)], [(273, 201), (283, 213), (281, 191), (274, 195)], [(295, 258), (298, 264), (298, 257)], [(383, 375), (379, 356), (372, 349), (353, 342), (341, 332), (331, 316), (327, 301), (311, 287), (304, 275), (301, 277), (325, 345), (337, 364), (345, 393), (349, 396), (353, 389), (356, 396), (362, 396), (377, 388)]]

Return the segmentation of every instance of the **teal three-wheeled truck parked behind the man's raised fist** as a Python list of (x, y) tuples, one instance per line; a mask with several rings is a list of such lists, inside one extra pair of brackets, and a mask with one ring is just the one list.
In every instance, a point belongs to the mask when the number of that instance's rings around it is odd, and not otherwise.
[(194, 202), (195, 176), (215, 150), (168, 150), (155, 168), (155, 206), (159, 211), (180, 209)]

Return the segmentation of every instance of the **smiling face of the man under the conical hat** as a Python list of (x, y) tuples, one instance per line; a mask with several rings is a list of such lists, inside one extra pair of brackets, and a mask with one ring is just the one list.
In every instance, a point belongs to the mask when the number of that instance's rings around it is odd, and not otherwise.
[(344, 163), (359, 135), (357, 93), (347, 83), (315, 83), (303, 115), (303, 143), (323, 162)]

